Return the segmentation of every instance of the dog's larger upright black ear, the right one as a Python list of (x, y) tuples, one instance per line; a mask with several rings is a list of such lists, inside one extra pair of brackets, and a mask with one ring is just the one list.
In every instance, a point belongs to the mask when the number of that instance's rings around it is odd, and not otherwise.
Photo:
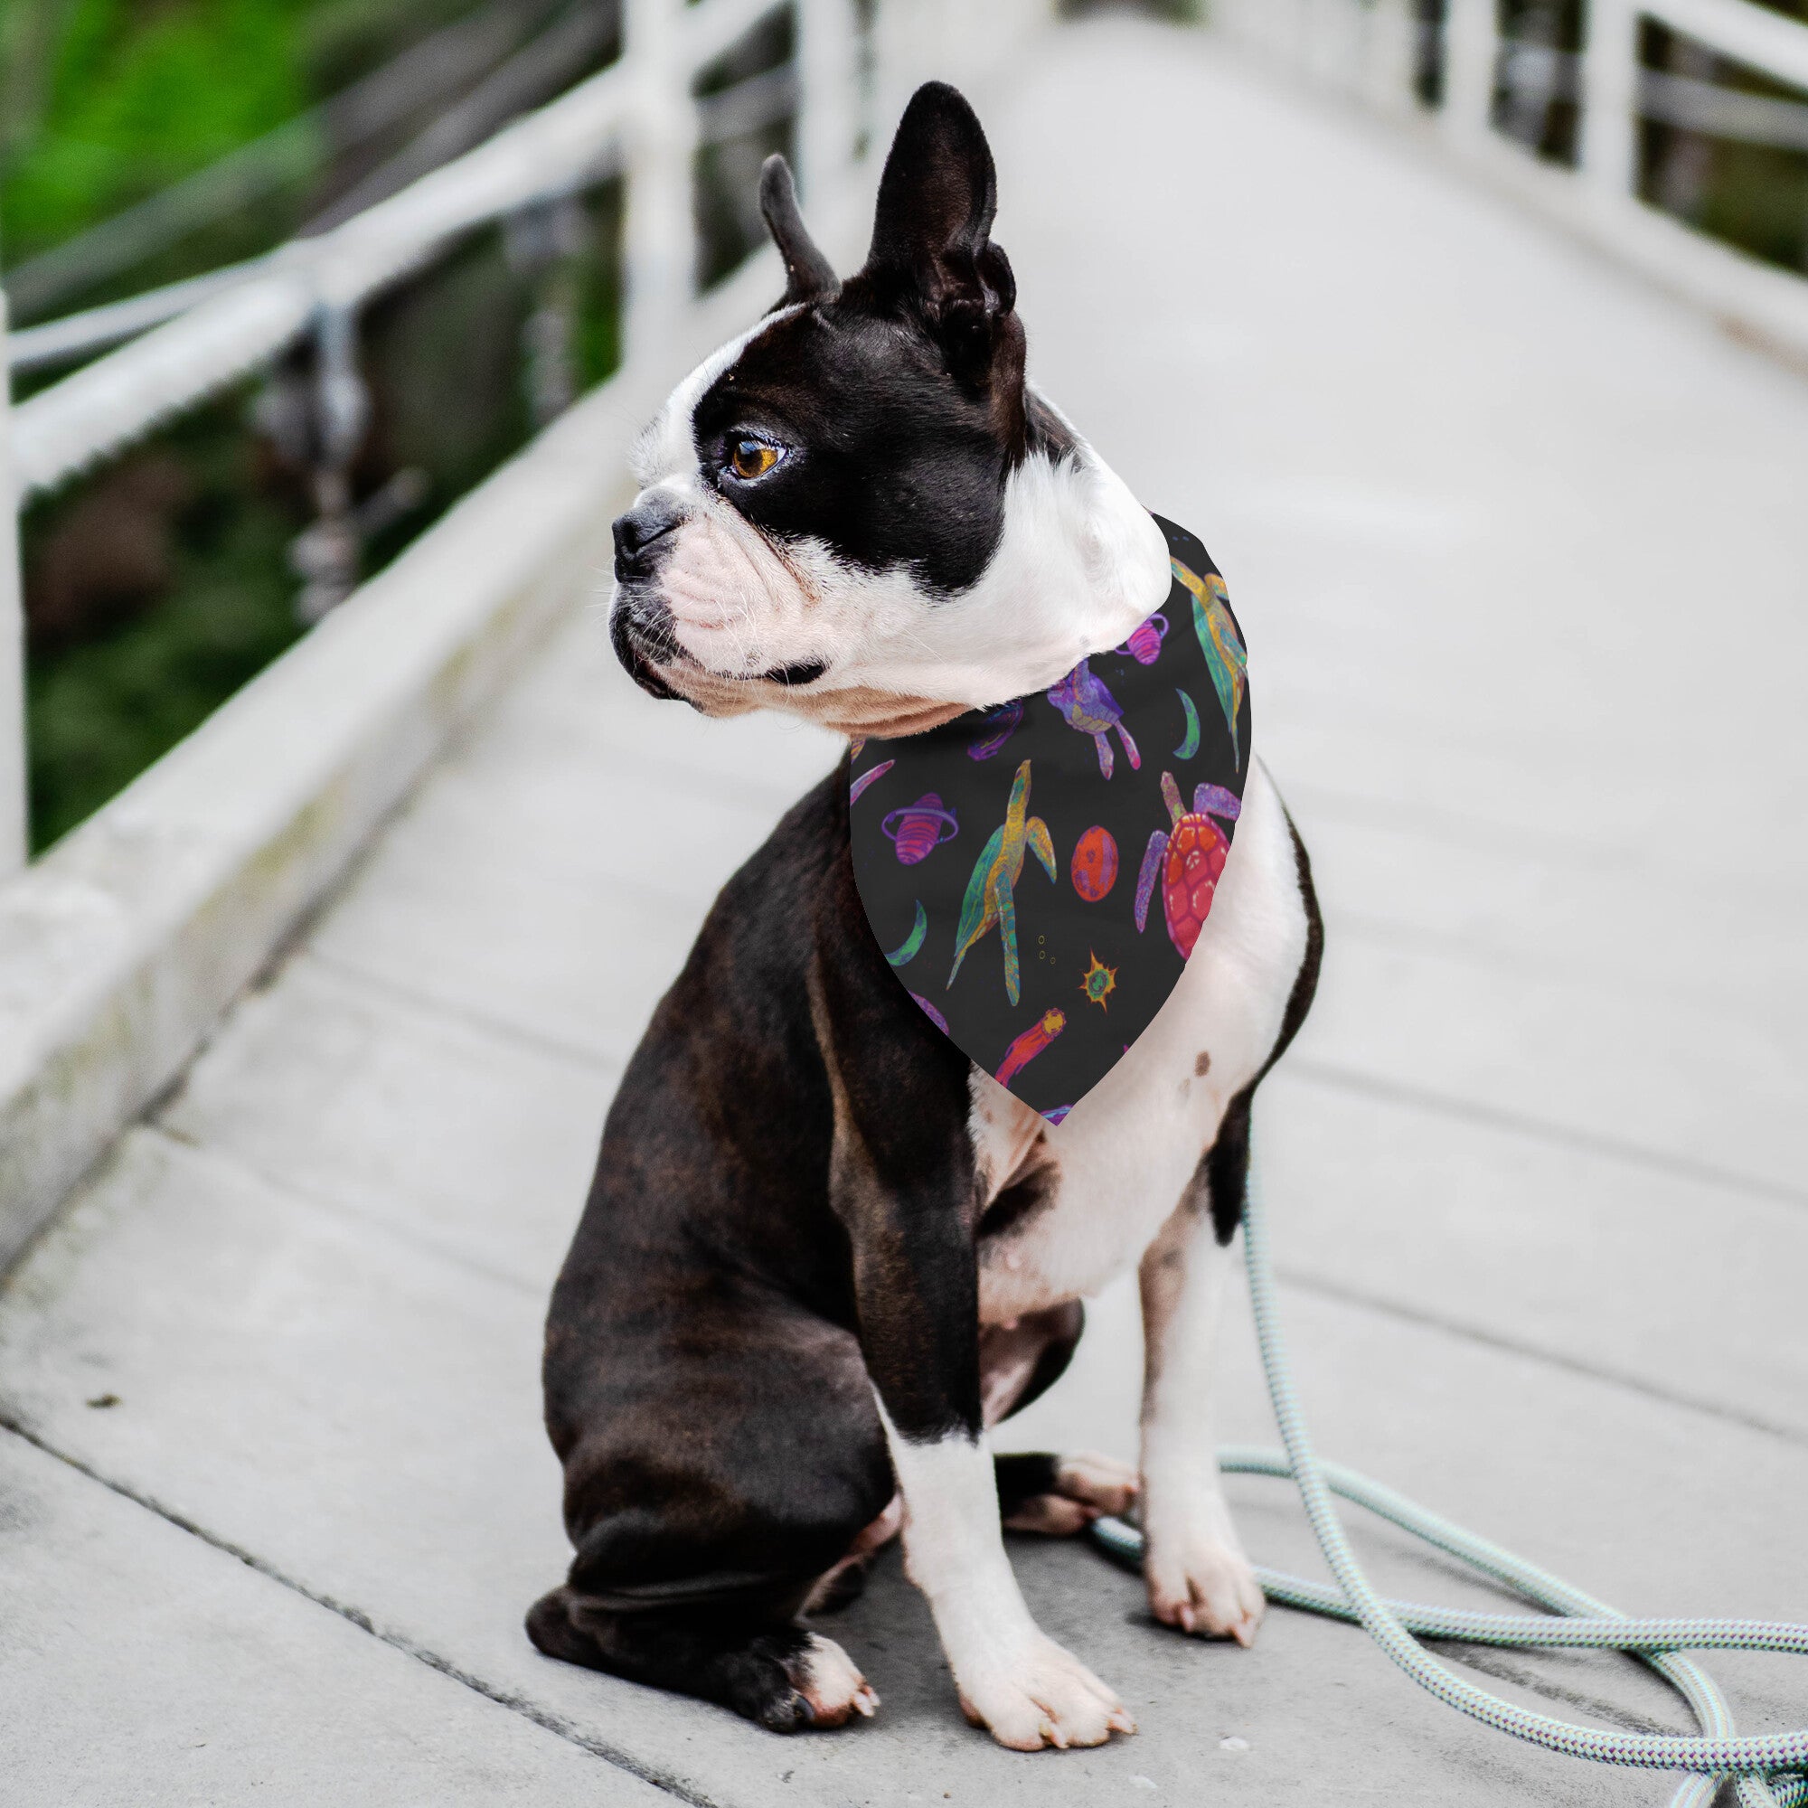
[(989, 239), (996, 212), (998, 172), (978, 116), (946, 81), (926, 81), (879, 179), (864, 275), (913, 302), (951, 369), (975, 378), (1016, 306), (1011, 260)]

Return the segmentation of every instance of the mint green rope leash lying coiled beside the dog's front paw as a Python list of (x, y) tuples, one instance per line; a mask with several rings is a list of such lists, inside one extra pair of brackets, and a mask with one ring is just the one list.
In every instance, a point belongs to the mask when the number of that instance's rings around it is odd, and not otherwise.
[[(1474, 1531), (1464, 1531), (1405, 1495), (1394, 1493), (1392, 1488), (1383, 1488), (1342, 1464), (1322, 1463), (1313, 1454), (1282, 1340), (1267, 1219), (1255, 1161), (1249, 1164), (1244, 1208), (1244, 1262), (1249, 1269), (1249, 1302), (1255, 1307), (1262, 1369), (1285, 1454), (1246, 1445), (1226, 1446), (1219, 1452), (1219, 1468), (1233, 1475), (1291, 1475), (1318, 1539), (1318, 1549), (1338, 1580), (1338, 1587), (1325, 1587), (1302, 1577), (1258, 1568), (1257, 1580), (1269, 1600), (1360, 1624), (1421, 1689), (1517, 1739), (1604, 1765), (1692, 1772), (1671, 1799), (1671, 1808), (1707, 1808), (1725, 1777), (1736, 1779), (1743, 1808), (1801, 1808), (1808, 1803), (1808, 1777), (1790, 1774), (1808, 1770), (1808, 1728), (1739, 1737), (1732, 1710), (1712, 1678), (1690, 1658), (1678, 1656), (1681, 1651), (1784, 1651), (1808, 1656), (1808, 1625), (1766, 1620), (1629, 1620), (1560, 1577), (1539, 1569), (1537, 1564), (1515, 1557), (1488, 1539), (1479, 1539)], [(1383, 1600), (1351, 1549), (1332, 1495), (1365, 1506), (1492, 1582), (1548, 1607), (1549, 1613), (1472, 1613), (1459, 1607)], [(1101, 1519), (1092, 1526), (1092, 1537), (1117, 1562), (1128, 1568), (1141, 1566), (1143, 1533), (1134, 1526), (1121, 1519)], [(1455, 1676), (1419, 1645), (1414, 1633), (1475, 1645), (1625, 1651), (1649, 1665), (1689, 1703), (1701, 1732), (1689, 1737), (1602, 1732), (1549, 1714), (1533, 1714)]]

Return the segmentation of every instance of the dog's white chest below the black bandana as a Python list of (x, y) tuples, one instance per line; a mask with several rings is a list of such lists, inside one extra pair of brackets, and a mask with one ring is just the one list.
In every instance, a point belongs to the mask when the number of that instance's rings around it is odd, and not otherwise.
[(1293, 837), (1257, 765), (1193, 958), (1117, 1067), (1059, 1126), (975, 1070), (982, 1323), (1096, 1293), (1141, 1258), (1267, 1061), (1305, 937)]

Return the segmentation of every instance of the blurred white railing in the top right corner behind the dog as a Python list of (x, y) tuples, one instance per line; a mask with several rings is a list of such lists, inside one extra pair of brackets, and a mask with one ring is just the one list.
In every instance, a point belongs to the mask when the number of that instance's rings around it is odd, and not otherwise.
[[(1437, 18), (1425, 20), (1425, 11)], [(1808, 280), (1696, 231), (1638, 193), (1638, 127), (1808, 148), (1808, 25), (1752, 0), (1587, 0), (1580, 54), (1508, 42), (1499, 0), (1211, 0), (1210, 20), (1314, 83), (1423, 119), (1448, 150), (1558, 215), (1745, 336), (1808, 363)], [(1716, 58), (1801, 89), (1801, 103), (1739, 94), (1640, 61), (1640, 24), (1667, 25)], [(1427, 112), (1427, 52), (1439, 99)], [(1519, 85), (1580, 105), (1573, 166), (1542, 161), (1497, 125)]]

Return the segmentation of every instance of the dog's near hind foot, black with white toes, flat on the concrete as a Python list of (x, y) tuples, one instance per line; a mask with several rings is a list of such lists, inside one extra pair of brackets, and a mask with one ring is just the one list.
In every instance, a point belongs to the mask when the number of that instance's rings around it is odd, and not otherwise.
[(613, 1611), (566, 1586), (528, 1611), (528, 1638), (550, 1658), (718, 1701), (772, 1732), (841, 1727), (879, 1707), (841, 1645), (788, 1615), (741, 1618), (718, 1606)]

